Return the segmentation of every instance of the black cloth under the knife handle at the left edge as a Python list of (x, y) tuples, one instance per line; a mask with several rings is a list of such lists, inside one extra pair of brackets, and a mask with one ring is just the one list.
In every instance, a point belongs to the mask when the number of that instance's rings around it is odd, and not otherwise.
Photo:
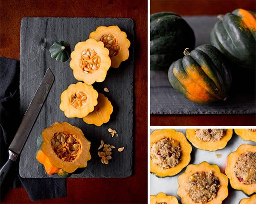
[[(0, 57), (0, 167), (8, 160), (8, 147), (22, 118), (19, 114), (19, 74), (17, 60)], [(22, 186), (32, 201), (67, 196), (64, 178), (21, 178), (18, 172), (17, 159), (1, 188), (1, 200), (10, 188)]]

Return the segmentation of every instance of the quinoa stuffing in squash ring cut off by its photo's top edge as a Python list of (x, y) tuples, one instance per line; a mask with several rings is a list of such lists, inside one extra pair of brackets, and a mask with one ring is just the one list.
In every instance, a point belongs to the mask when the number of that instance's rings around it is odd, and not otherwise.
[(225, 134), (227, 129), (195, 129), (195, 137), (201, 141), (217, 141)]

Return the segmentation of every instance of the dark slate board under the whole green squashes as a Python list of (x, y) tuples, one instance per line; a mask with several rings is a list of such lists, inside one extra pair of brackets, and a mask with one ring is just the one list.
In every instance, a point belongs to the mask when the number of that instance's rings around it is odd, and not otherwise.
[[(210, 43), (216, 17), (184, 17), (195, 32), (195, 46)], [(244, 80), (243, 80), (244, 79)], [(189, 101), (172, 88), (167, 71), (150, 71), (150, 114), (245, 114), (256, 112), (255, 73), (233, 73), (226, 101), (204, 105)]]

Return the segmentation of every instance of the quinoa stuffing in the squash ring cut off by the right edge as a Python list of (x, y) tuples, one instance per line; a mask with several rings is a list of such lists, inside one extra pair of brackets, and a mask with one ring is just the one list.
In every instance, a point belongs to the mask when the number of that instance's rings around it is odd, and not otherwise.
[(256, 184), (256, 152), (239, 155), (234, 171), (242, 184)]

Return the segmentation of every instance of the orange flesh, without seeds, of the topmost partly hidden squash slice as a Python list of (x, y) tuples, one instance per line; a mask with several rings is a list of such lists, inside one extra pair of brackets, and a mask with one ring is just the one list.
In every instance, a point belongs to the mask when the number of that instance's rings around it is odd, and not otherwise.
[(125, 32), (121, 31), (118, 26), (99, 26), (94, 32), (90, 33), (90, 38), (100, 41), (103, 35), (112, 34), (117, 40), (120, 50), (116, 55), (111, 57), (111, 67), (118, 68), (122, 61), (125, 61), (129, 57), (129, 50), (131, 43), (127, 39)]

